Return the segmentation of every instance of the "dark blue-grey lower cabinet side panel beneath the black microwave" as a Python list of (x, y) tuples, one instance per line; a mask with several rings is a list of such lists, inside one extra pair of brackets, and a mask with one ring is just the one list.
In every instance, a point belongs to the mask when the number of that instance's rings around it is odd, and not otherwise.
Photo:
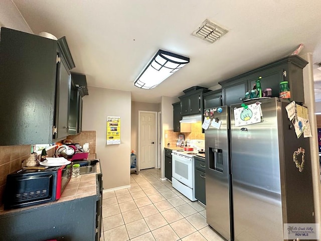
[(96, 201), (94, 195), (2, 214), (0, 240), (95, 240)]

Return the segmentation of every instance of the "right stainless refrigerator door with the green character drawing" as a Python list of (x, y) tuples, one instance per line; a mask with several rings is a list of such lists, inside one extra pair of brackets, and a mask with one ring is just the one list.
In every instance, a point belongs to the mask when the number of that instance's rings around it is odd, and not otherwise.
[(241, 104), (230, 107), (234, 240), (237, 241), (283, 240), (281, 107), (276, 98), (260, 101), (264, 121), (257, 124), (235, 127), (234, 108)]

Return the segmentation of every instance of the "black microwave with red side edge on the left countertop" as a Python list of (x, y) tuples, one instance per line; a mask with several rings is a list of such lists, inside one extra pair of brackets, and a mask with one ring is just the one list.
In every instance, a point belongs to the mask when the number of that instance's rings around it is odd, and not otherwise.
[(7, 176), (4, 208), (19, 208), (58, 200), (71, 178), (71, 166), (20, 169)]

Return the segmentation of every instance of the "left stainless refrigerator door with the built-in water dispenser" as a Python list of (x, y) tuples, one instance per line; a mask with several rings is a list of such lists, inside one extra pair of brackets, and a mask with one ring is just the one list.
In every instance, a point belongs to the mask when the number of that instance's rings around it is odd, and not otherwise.
[(231, 240), (228, 116), (228, 107), (223, 106), (221, 113), (214, 113), (214, 117), (222, 121), (220, 129), (205, 131), (206, 220), (223, 237)]

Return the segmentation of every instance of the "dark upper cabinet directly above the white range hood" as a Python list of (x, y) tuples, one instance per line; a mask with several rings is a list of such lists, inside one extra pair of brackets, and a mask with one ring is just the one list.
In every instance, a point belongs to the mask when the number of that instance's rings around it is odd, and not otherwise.
[(182, 115), (201, 114), (203, 113), (203, 94), (211, 90), (194, 86), (184, 90), (185, 95), (180, 96)]

